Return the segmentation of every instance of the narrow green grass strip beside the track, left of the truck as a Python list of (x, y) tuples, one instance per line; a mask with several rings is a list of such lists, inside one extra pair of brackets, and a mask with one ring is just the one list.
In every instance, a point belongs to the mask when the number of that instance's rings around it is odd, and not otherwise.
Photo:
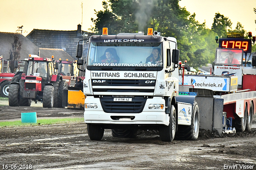
[(84, 122), (84, 118), (57, 118), (57, 119), (39, 119), (36, 123), (22, 123), (20, 121), (0, 122), (0, 127), (29, 127), (40, 125), (52, 125), (58, 123), (80, 123)]

